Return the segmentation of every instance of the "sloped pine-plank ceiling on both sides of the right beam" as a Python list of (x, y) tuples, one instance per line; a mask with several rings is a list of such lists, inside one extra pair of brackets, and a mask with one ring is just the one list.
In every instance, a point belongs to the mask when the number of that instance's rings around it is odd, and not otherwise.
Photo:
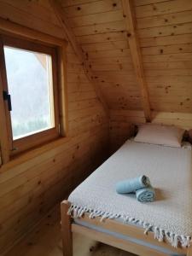
[[(120, 0), (59, 0), (111, 109), (143, 109)], [(192, 112), (192, 1), (134, 0), (150, 107)]]

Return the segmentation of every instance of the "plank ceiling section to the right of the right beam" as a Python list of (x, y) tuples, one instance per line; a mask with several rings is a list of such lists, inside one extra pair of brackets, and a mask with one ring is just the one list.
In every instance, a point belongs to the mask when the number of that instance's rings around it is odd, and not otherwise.
[(191, 2), (136, 3), (135, 9), (152, 109), (190, 113)]

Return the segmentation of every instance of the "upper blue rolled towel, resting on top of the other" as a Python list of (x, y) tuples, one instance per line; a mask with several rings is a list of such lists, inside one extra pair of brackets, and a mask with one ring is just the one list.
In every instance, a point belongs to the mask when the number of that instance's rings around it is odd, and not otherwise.
[(149, 178), (145, 175), (120, 181), (116, 184), (116, 191), (119, 194), (136, 192), (137, 189), (143, 189), (150, 185)]

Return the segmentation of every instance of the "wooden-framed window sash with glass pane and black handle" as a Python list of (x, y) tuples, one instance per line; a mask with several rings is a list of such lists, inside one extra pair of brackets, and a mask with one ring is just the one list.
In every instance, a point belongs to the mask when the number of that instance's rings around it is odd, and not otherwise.
[(1, 36), (0, 75), (10, 154), (59, 137), (57, 51)]

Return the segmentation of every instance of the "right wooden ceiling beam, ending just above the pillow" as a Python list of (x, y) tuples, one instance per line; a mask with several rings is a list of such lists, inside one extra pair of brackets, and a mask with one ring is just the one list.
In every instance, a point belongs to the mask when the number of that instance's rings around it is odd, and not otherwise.
[(127, 30), (127, 40), (130, 46), (131, 59), (137, 76), (137, 83), (140, 86), (143, 97), (143, 110), (147, 122), (151, 121), (151, 109), (148, 98), (148, 86), (144, 77), (142, 53), (139, 46), (136, 29), (136, 17), (133, 6), (133, 0), (121, 0), (125, 25)]

